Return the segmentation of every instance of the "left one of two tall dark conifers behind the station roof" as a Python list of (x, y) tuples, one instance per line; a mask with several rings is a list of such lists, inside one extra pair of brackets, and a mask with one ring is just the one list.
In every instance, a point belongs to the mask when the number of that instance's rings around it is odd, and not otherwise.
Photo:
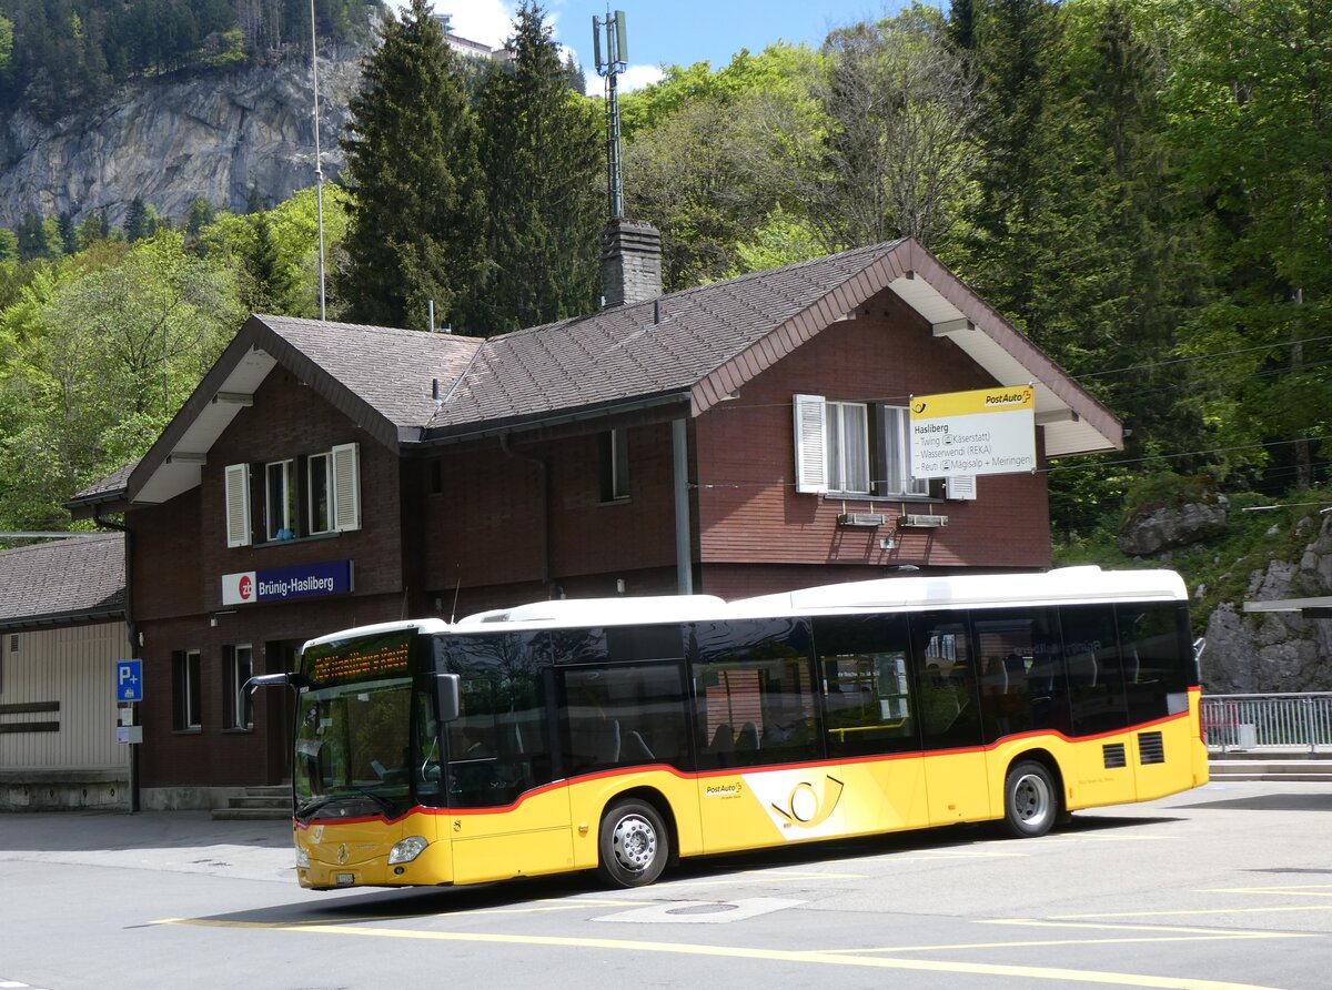
[[(352, 320), (482, 329), (476, 292), (485, 272), (485, 191), (477, 124), (457, 56), (425, 0), (386, 21), (366, 61), (342, 140), (353, 199), (338, 280)], [(509, 181), (505, 169), (496, 183)]]

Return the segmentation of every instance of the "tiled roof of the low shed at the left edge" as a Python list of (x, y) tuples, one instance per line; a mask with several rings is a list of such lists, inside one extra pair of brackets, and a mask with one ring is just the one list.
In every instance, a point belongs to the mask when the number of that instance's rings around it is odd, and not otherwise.
[(123, 618), (121, 533), (0, 552), (0, 629)]

